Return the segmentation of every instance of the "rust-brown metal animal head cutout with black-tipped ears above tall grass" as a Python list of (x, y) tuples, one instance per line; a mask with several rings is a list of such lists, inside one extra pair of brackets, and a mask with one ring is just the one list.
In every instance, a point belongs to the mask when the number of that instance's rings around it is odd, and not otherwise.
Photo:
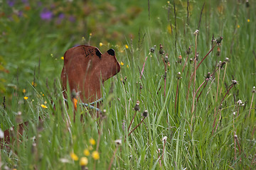
[(61, 81), (66, 89), (68, 79), (70, 89), (80, 91), (82, 101), (91, 102), (101, 97), (101, 84), (119, 71), (114, 50), (102, 54), (97, 47), (80, 45), (65, 52)]

